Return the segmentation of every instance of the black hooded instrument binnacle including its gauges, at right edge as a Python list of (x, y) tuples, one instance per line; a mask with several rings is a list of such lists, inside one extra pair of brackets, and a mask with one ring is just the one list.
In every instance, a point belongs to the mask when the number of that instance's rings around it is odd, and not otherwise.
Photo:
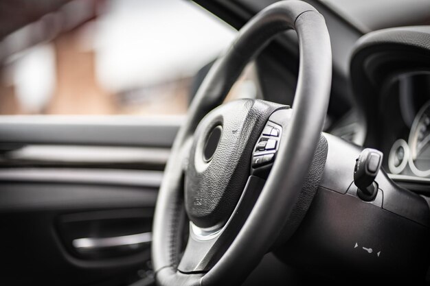
[(365, 34), (352, 52), (350, 79), (365, 133), (360, 145), (383, 152), (383, 169), (397, 184), (429, 195), (430, 26)]

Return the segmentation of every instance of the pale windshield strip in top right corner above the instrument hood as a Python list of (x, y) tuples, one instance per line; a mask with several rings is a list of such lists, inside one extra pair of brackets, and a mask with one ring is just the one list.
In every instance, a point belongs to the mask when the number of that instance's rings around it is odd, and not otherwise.
[(387, 27), (430, 25), (430, 0), (319, 0), (363, 33)]

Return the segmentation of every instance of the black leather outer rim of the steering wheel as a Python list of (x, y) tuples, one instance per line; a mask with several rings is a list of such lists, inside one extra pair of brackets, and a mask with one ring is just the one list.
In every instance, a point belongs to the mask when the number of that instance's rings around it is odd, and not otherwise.
[[(178, 272), (183, 162), (192, 134), (203, 116), (222, 104), (249, 60), (286, 29), (297, 32), (300, 65), (291, 123), (282, 134), (279, 147), (278, 158), (282, 159), (273, 164), (260, 198), (218, 263), (205, 274)], [(172, 147), (152, 230), (152, 262), (159, 285), (232, 285), (245, 278), (269, 250), (293, 210), (313, 159), (326, 117), (331, 71), (330, 38), (324, 18), (305, 2), (280, 1), (270, 5), (240, 29), (234, 44), (216, 61), (199, 88)]]

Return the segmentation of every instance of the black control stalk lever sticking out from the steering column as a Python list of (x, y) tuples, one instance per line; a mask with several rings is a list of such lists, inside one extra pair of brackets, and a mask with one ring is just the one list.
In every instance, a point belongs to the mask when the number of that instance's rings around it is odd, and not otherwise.
[(355, 162), (354, 184), (359, 188), (357, 195), (361, 200), (374, 200), (378, 193), (378, 184), (374, 180), (381, 169), (382, 157), (378, 150), (366, 148)]

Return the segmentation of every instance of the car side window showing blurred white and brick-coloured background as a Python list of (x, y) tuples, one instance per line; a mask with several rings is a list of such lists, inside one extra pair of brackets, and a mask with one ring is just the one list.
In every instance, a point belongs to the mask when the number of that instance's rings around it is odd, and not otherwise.
[[(0, 115), (184, 114), (235, 35), (189, 1), (71, 1), (1, 41)], [(254, 77), (229, 98), (256, 97)]]

